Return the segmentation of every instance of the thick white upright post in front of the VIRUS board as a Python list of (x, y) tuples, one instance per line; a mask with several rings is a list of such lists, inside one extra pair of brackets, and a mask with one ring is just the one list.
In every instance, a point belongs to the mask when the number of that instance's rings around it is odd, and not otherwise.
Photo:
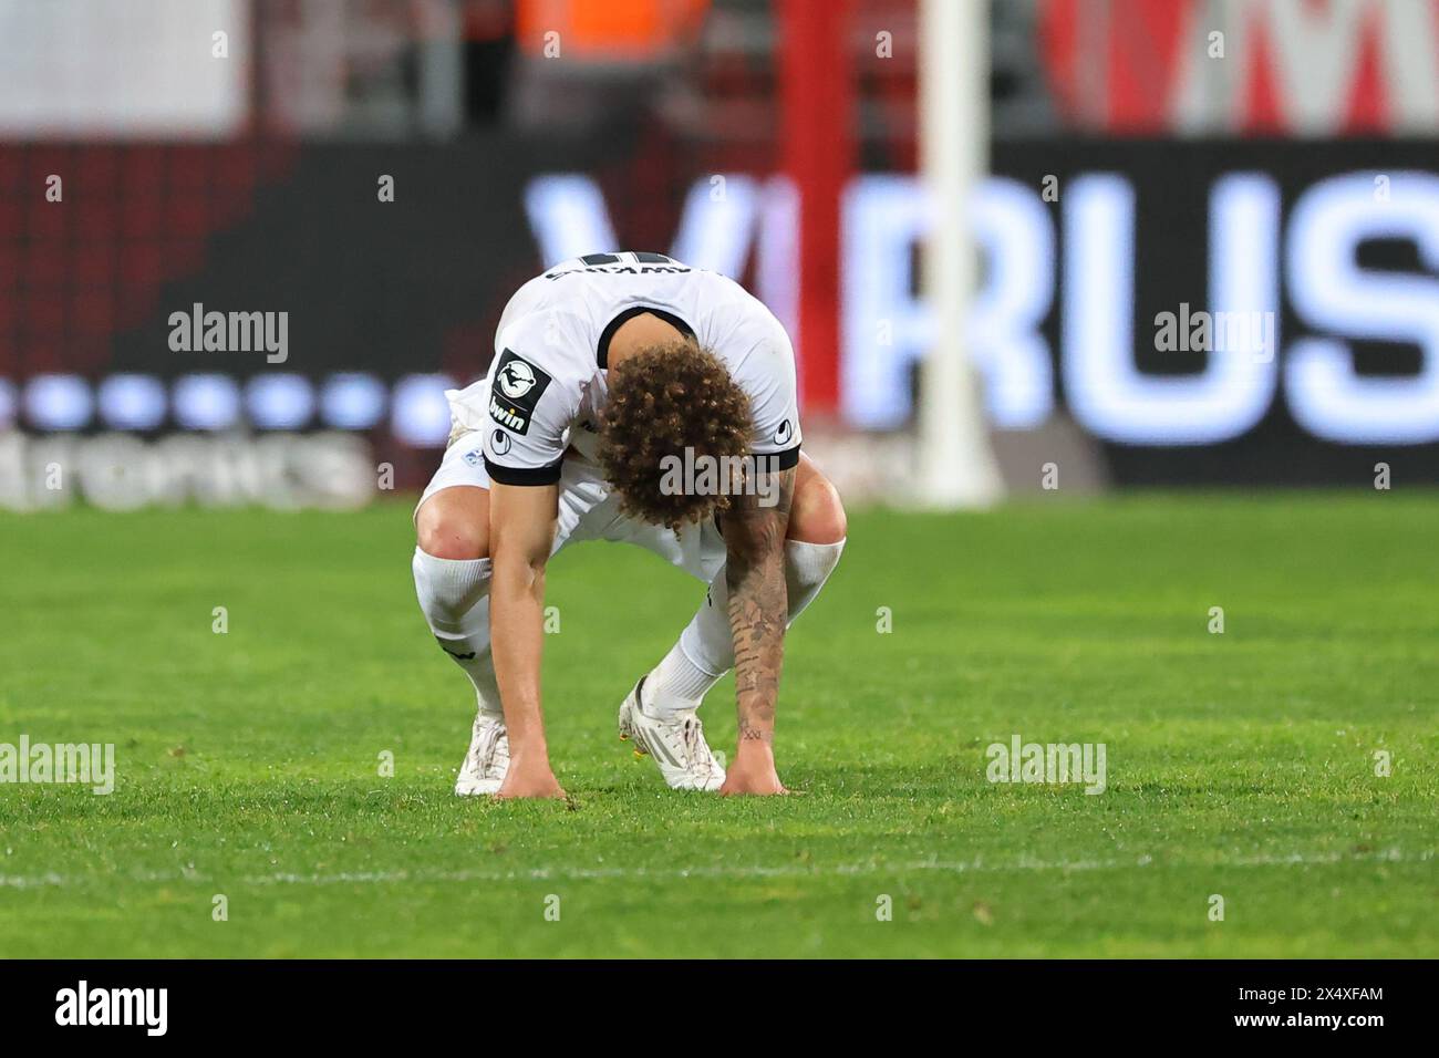
[(979, 278), (970, 202), (989, 170), (989, 0), (920, 0), (920, 171), (930, 200), (922, 282), (934, 344), (920, 376), (917, 499), (984, 507), (1003, 495), (966, 325)]

